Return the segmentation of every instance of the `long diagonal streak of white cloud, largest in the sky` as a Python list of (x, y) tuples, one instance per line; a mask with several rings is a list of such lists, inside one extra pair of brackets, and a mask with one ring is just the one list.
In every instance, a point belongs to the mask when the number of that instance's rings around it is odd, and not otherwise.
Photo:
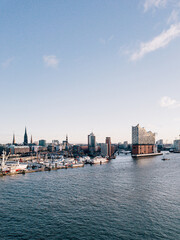
[(167, 46), (173, 39), (180, 36), (180, 23), (173, 24), (166, 31), (153, 38), (151, 41), (141, 43), (140, 49), (130, 57), (131, 61), (136, 61), (147, 53), (153, 52), (159, 48)]

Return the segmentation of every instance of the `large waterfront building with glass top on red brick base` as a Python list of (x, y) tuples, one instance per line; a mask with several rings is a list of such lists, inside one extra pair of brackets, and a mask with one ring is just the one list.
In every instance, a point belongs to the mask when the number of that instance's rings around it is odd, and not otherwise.
[(139, 124), (132, 127), (132, 155), (155, 153), (155, 133), (146, 131)]

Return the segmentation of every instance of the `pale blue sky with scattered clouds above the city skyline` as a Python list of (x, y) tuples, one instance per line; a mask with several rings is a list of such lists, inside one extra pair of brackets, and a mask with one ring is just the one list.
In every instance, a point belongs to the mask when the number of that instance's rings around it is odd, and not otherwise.
[(0, 143), (180, 134), (180, 0), (1, 0)]

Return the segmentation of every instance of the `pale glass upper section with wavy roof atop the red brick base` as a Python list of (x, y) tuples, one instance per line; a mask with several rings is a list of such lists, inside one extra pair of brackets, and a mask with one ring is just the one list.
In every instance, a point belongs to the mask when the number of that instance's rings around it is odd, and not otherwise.
[(155, 144), (155, 133), (147, 132), (138, 124), (132, 127), (132, 144)]

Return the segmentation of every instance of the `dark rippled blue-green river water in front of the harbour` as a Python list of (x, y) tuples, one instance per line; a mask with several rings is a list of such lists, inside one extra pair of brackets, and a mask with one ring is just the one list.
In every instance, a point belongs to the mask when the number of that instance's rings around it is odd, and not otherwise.
[(180, 239), (180, 154), (0, 178), (0, 239)]

